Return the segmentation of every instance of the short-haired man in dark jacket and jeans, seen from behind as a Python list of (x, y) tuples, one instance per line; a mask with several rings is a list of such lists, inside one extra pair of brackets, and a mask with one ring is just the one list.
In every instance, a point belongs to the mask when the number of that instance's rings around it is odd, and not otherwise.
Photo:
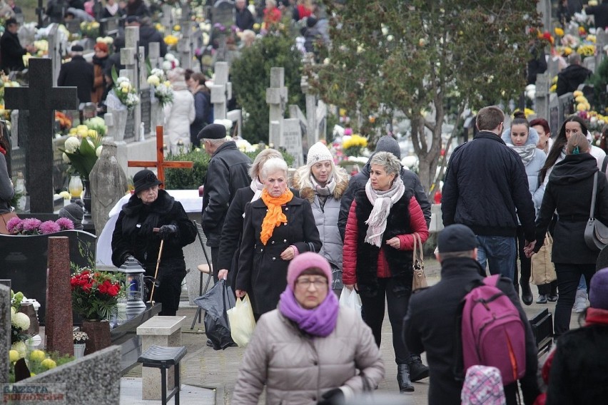
[[(445, 173), (443, 225), (467, 225), (477, 236), (477, 260), (490, 273), (513, 280), (517, 217), (534, 246), (534, 205), (520, 155), (500, 138), (505, 114), (496, 106), (477, 113), (480, 130), (454, 150)], [(531, 242), (532, 241), (532, 242)]]

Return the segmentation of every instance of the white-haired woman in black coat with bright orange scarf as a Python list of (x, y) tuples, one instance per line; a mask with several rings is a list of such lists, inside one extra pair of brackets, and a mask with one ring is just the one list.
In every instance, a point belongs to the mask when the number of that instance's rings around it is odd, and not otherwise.
[(313, 209), (287, 188), (285, 160), (269, 159), (261, 177), (260, 199), (245, 207), (235, 285), (237, 297), (250, 293), (256, 319), (276, 308), (287, 286), (290, 260), (299, 253), (321, 249)]

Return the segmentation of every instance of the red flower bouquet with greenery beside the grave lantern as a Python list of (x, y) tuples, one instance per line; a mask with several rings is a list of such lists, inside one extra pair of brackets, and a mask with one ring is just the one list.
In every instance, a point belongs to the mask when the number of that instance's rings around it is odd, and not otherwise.
[(118, 298), (125, 297), (124, 275), (87, 267), (76, 270), (70, 279), (72, 307), (83, 319), (110, 319)]

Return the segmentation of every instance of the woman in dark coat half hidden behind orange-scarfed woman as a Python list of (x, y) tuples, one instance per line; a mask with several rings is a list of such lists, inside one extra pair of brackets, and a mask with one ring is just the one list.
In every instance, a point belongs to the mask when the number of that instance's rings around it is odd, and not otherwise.
[[(220, 255), (218, 256), (218, 279), (228, 280), (228, 284), (234, 285), (238, 272), (238, 251), (240, 250), (240, 240), (243, 236), (243, 215), (245, 206), (260, 198), (264, 183), (260, 179), (260, 170), (267, 160), (272, 158), (283, 159), (283, 155), (278, 150), (268, 148), (262, 150), (255, 156), (253, 165), (249, 169), (251, 184), (248, 187), (239, 188), (230, 202), (226, 220), (222, 228), (222, 238), (220, 242)], [(217, 270), (216, 270), (217, 271)]]

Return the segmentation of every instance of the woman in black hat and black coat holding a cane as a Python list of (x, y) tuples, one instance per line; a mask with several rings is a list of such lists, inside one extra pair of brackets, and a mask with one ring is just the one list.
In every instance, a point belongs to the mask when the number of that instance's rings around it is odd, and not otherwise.
[[(161, 184), (151, 170), (133, 176), (135, 192), (118, 215), (112, 234), (112, 262), (120, 267), (129, 258), (136, 259), (146, 269), (146, 276), (154, 277), (164, 240), (153, 300), (163, 304), (160, 315), (172, 316), (179, 307), (181, 282), (186, 277), (182, 248), (194, 242), (196, 227), (181, 202), (158, 189)], [(159, 228), (158, 232), (154, 228)]]

